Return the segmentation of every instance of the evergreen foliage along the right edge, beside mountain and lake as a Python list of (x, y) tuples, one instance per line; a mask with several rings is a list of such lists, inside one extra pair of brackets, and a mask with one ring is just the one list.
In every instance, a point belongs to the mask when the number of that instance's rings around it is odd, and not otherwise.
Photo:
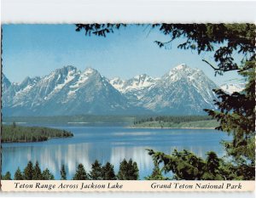
[(206, 110), (208, 114), (219, 121), (218, 130), (233, 136), (232, 141), (224, 141), (224, 148), (233, 159), (233, 170), (237, 177), (243, 179), (255, 178), (255, 62), (245, 64), (252, 69), (241, 71), (247, 79), (247, 86), (241, 93), (218, 94), (215, 105), (217, 110)]

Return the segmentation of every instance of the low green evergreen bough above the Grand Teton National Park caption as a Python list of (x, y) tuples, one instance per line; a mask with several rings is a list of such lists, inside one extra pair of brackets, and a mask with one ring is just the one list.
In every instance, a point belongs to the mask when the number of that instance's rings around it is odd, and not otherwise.
[(203, 160), (188, 150), (174, 150), (172, 155), (162, 152), (148, 150), (148, 154), (153, 156), (155, 163), (163, 163), (163, 171), (172, 172), (173, 179), (186, 180), (226, 180), (234, 179), (230, 164), (225, 163), (214, 152), (207, 153), (207, 160)]

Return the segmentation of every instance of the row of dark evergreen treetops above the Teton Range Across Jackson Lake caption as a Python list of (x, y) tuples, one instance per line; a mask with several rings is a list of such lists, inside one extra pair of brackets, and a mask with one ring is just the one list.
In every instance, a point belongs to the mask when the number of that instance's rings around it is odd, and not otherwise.
[[(125, 159), (120, 162), (119, 172), (114, 173), (113, 165), (107, 162), (102, 166), (99, 161), (95, 161), (91, 165), (90, 172), (86, 172), (84, 165), (79, 163), (76, 173), (73, 175), (73, 180), (137, 180), (139, 178), (139, 170), (137, 167), (137, 162), (126, 161)], [(11, 180), (11, 173), (7, 172), (5, 175), (2, 175), (3, 180)], [(20, 171), (20, 167), (15, 172), (14, 180), (54, 180), (55, 177), (52, 173), (49, 172), (49, 169), (46, 168), (44, 171), (39, 167), (38, 161), (35, 165), (32, 164), (32, 161), (28, 161), (23, 172)], [(64, 165), (61, 165), (61, 180), (67, 180), (67, 168)]]

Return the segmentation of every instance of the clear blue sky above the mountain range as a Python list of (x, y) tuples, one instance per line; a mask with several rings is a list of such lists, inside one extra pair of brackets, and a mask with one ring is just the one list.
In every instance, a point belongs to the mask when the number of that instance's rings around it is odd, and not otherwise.
[(108, 37), (85, 37), (75, 25), (3, 25), (3, 73), (11, 82), (21, 82), (26, 76), (44, 76), (74, 65), (81, 71), (92, 67), (102, 76), (128, 79), (143, 73), (160, 77), (185, 63), (201, 69), (218, 85), (240, 78), (236, 72), (215, 77), (201, 61), (213, 62), (212, 53), (177, 49), (182, 40), (168, 49), (159, 48), (155, 40), (168, 41), (168, 37), (147, 25), (130, 25)]

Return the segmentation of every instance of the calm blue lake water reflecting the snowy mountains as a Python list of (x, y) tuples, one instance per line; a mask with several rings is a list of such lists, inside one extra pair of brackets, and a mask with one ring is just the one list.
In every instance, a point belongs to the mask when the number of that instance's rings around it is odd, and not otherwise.
[[(48, 126), (55, 127), (55, 126)], [(229, 140), (226, 133), (207, 129), (135, 129), (108, 126), (62, 126), (71, 131), (73, 138), (50, 139), (39, 143), (3, 144), (3, 173), (9, 171), (12, 177), (18, 167), (23, 170), (28, 161), (38, 161), (40, 167), (49, 168), (55, 179), (60, 178), (61, 164), (67, 166), (67, 176), (72, 178), (76, 167), (83, 163), (90, 171), (95, 160), (105, 164), (107, 161), (118, 173), (119, 163), (124, 158), (137, 161), (140, 178), (152, 173), (154, 167), (147, 150), (153, 149), (172, 153), (174, 149), (190, 150), (205, 158), (209, 150), (224, 156), (219, 142)]]

